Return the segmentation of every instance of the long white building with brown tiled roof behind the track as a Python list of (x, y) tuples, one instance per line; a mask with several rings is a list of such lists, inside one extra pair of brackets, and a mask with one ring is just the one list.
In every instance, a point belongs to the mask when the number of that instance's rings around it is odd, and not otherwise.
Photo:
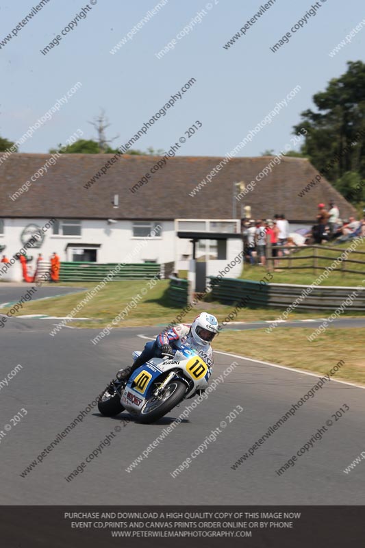
[[(329, 199), (343, 218), (355, 214), (323, 178), (299, 196), (318, 176), (305, 159), (281, 158), (268, 175), (255, 179), (272, 160), (14, 153), (0, 163), (0, 244), (12, 256), (36, 227), (42, 231), (54, 218), (38, 246), (45, 256), (57, 251), (61, 260), (123, 262), (136, 240), (160, 225), (131, 262), (177, 263), (191, 253), (190, 242), (177, 238), (179, 230), (239, 232), (247, 206), (255, 219), (285, 214), (293, 228), (312, 224), (318, 202)], [(236, 200), (235, 184), (255, 180), (253, 190)]]

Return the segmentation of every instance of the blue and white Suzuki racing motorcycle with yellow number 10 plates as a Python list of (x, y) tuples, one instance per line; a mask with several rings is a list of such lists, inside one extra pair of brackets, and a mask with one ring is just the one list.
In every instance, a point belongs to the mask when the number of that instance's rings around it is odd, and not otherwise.
[[(134, 360), (138, 356), (134, 351)], [(141, 423), (154, 423), (183, 399), (205, 390), (212, 370), (196, 350), (181, 345), (174, 356), (162, 356), (138, 367), (127, 381), (112, 380), (99, 396), (101, 414), (116, 416), (127, 410)]]

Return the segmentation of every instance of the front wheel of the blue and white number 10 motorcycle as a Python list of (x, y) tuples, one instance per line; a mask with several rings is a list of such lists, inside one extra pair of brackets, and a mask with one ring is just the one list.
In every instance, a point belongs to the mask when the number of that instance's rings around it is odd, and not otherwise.
[(152, 395), (149, 397), (140, 412), (140, 422), (148, 424), (158, 421), (184, 399), (185, 393), (186, 384), (184, 382), (178, 380), (169, 382), (162, 396)]

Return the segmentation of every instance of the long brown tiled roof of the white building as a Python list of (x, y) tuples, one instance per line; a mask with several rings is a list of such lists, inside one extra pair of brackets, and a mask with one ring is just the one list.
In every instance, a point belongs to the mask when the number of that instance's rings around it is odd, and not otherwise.
[[(1, 153), (0, 153), (1, 156)], [(233, 158), (194, 197), (188, 194), (223, 158), (171, 158), (151, 176), (148, 184), (132, 193), (129, 188), (149, 172), (160, 157), (123, 155), (110, 166), (91, 188), (84, 185), (112, 158), (111, 154), (62, 154), (43, 177), (32, 183), (27, 192), (12, 201), (13, 195), (40, 169), (50, 154), (15, 153), (0, 165), (0, 216), (71, 219), (231, 219), (232, 185), (247, 184), (267, 166), (273, 157)], [(251, 206), (254, 218), (283, 213), (289, 220), (312, 221), (319, 202), (335, 199), (340, 216), (355, 214), (349, 204), (325, 179), (301, 192), (318, 171), (302, 158), (283, 158), (252, 192), (237, 201)], [(112, 199), (119, 195), (119, 208)]]

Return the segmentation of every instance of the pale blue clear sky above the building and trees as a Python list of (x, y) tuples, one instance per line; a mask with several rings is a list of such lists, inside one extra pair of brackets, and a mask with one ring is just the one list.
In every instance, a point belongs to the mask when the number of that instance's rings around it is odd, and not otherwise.
[[(34, 132), (21, 152), (45, 153), (77, 129), (95, 138), (88, 123), (104, 108), (114, 146), (133, 136), (192, 77), (197, 82), (138, 141), (139, 149), (167, 150), (199, 120), (202, 126), (179, 155), (223, 156), (255, 127), (295, 86), (301, 91), (263, 127), (238, 156), (284, 148), (312, 108), (312, 95), (331, 77), (346, 71), (347, 60), (363, 60), (365, 27), (333, 58), (329, 52), (364, 18), (361, 0), (320, 0), (316, 16), (276, 53), (270, 47), (290, 31), (315, 2), (276, 2), (229, 49), (223, 45), (260, 10), (260, 0), (169, 0), (114, 55), (110, 50), (142, 20), (158, 0), (92, 0), (86, 18), (47, 55), (49, 42), (86, 6), (79, 0), (49, 0), (0, 49), (0, 135), (20, 138), (77, 82), (82, 86), (60, 111)], [(209, 5), (208, 5), (209, 4)], [(32, 10), (28, 0), (0, 7), (0, 43)], [(208, 7), (207, 7), (208, 5)], [(177, 40), (161, 59), (158, 53), (205, 10), (201, 22)]]

